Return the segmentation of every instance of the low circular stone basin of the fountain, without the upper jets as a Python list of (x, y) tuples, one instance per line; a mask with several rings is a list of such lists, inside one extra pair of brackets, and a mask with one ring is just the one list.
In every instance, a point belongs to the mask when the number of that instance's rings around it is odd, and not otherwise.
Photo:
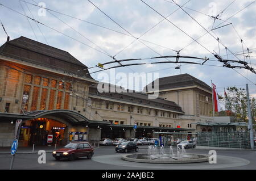
[(171, 157), (169, 157), (169, 154), (148, 155), (146, 153), (143, 153), (123, 155), (122, 159), (125, 161), (139, 163), (199, 163), (208, 162), (209, 155), (183, 154), (182, 157), (180, 157), (179, 155), (172, 155)]

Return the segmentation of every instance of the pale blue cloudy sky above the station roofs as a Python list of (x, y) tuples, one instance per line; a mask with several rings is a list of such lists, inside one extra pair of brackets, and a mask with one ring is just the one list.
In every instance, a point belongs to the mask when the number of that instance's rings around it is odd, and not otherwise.
[[(224, 87), (245, 88), (245, 84), (248, 83), (250, 94), (256, 96), (256, 86), (253, 85), (256, 83), (256, 74), (244, 69), (235, 69), (236, 72), (233, 69), (223, 68), (222, 63), (217, 62), (211, 53), (214, 50), (222, 58), (226, 58), (225, 47), (227, 47), (230, 50), (228, 52), (229, 59), (246, 60), (251, 63), (253, 68), (256, 68), (256, 2), (254, 3), (254, 1), (175, 0), (178, 5), (184, 5), (182, 6), (183, 11), (172, 0), (143, 0), (144, 3), (140, 0), (90, 0), (105, 14), (86, 0), (24, 1), (0, 0), (0, 3), (6, 6), (0, 6), (0, 20), (10, 39), (25, 36), (66, 50), (88, 67), (112, 61), (111, 56), (115, 56), (117, 60), (175, 56), (174, 50), (180, 50), (181, 56), (208, 57), (210, 61), (205, 65), (130, 66), (117, 68), (115, 73), (128, 75), (133, 72), (156, 72), (159, 73), (159, 77), (188, 73), (208, 83), (209, 86), (212, 80), (217, 86), (219, 94), (223, 95)], [(54, 11), (47, 10), (44, 13), (44, 9), (39, 9), (31, 3), (46, 5), (46, 8)], [(46, 26), (36, 24), (21, 14), (34, 17)], [(168, 20), (163, 16), (168, 17)], [(217, 19), (214, 21), (214, 18), (210, 16), (217, 16)], [(210, 31), (213, 28), (217, 29)], [(5, 43), (6, 37), (7, 35), (1, 27), (0, 44)], [(197, 42), (193, 41), (198, 37), (200, 38)], [(219, 44), (217, 38), (219, 38)], [(241, 39), (243, 44), (241, 44)], [(243, 50), (247, 52), (247, 48), (249, 48), (249, 52), (252, 52), (250, 58), (241, 54)], [(238, 55), (234, 56), (233, 54)], [(196, 59), (182, 60), (200, 61)], [(137, 60), (129, 63), (156, 61), (175, 61), (175, 58)], [(112, 66), (116, 65), (118, 64)], [(177, 65), (181, 65), (181, 69), (175, 69)], [(105, 68), (109, 67), (105, 66)], [(89, 69), (90, 73), (96, 70), (100, 69)], [(109, 70), (104, 72), (110, 73)], [(92, 77), (101, 81), (98, 73), (93, 73)], [(136, 82), (134, 89), (141, 90), (142, 87)]]

